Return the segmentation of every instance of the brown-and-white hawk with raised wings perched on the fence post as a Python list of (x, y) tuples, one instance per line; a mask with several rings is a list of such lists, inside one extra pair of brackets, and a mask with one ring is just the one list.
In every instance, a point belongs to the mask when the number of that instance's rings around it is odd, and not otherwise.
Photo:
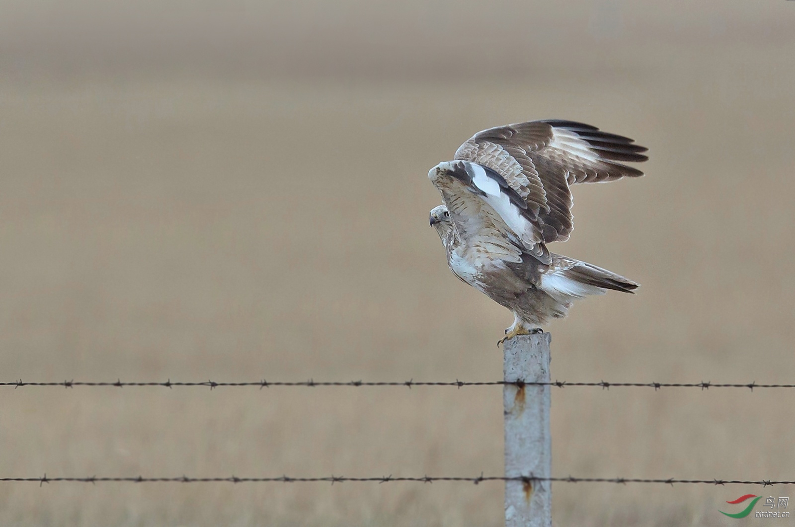
[(529, 121), (476, 133), (455, 160), (428, 174), (444, 205), (430, 223), (448, 266), (464, 283), (514, 314), (500, 342), (541, 331), (572, 302), (638, 284), (595, 265), (549, 252), (574, 229), (571, 187), (643, 175), (634, 140), (574, 121)]

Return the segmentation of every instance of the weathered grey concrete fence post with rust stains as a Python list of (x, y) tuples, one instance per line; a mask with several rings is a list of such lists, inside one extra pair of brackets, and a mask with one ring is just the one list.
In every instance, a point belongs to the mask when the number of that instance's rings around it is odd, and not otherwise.
[[(507, 383), (549, 383), (549, 333), (520, 335), (504, 344)], [(502, 390), (505, 414), (505, 475), (549, 478), (552, 439), (549, 433), (550, 387), (506, 384)], [(552, 483), (505, 483), (506, 527), (552, 527)]]

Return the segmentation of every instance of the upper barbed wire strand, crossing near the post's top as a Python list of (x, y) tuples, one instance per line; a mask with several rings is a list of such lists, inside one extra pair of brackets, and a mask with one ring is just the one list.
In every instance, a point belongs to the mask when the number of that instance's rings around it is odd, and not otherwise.
[(517, 381), (415, 381), (410, 379), (408, 381), (316, 381), (309, 379), (307, 381), (267, 381), (265, 379), (259, 381), (242, 381), (242, 382), (223, 382), (223, 381), (196, 381), (196, 382), (181, 382), (172, 381), (171, 379), (162, 381), (122, 381), (117, 379), (114, 382), (110, 381), (23, 381), (22, 379), (13, 382), (0, 382), (0, 387), (208, 387), (211, 390), (218, 387), (474, 387), (474, 386), (506, 386), (512, 385), (517, 387), (525, 386), (551, 386), (551, 387), (601, 387), (603, 390), (609, 390), (613, 387), (643, 387), (654, 388), (660, 390), (661, 388), (700, 388), (701, 390), (708, 390), (710, 388), (748, 388), (751, 391), (754, 388), (795, 388), (795, 384), (758, 384), (755, 381), (752, 383), (609, 383), (607, 381), (599, 382), (570, 382), (570, 381), (551, 381), (549, 383), (525, 382), (522, 380)]

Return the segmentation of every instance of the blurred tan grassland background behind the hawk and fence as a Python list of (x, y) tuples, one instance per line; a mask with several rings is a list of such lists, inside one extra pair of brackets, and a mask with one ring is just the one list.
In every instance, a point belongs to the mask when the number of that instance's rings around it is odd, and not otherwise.
[[(793, 382), (795, 2), (0, 11), (4, 381), (500, 379), (510, 314), (448, 271), (426, 174), (479, 129), (556, 117), (650, 161), (574, 190), (553, 251), (642, 288), (550, 326), (553, 378)], [(2, 476), (502, 473), (494, 387), (0, 397)], [(793, 479), (793, 397), (554, 390), (553, 472)], [(735, 525), (717, 509), (749, 492), (795, 489), (560, 483), (554, 521)], [(499, 483), (0, 484), (2, 525), (502, 515)]]

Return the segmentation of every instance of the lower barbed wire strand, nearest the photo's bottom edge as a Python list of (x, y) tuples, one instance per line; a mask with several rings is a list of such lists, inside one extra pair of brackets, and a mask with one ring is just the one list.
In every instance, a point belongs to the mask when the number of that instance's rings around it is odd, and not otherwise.
[(475, 476), (474, 478), (459, 477), (459, 476), (429, 476), (422, 477), (401, 477), (401, 476), (374, 476), (365, 478), (349, 478), (346, 476), (327, 476), (320, 478), (293, 478), (287, 475), (282, 475), (273, 478), (238, 478), (232, 475), (230, 477), (215, 477), (215, 478), (191, 478), (188, 476), (178, 477), (165, 477), (165, 478), (147, 478), (144, 476), (138, 477), (98, 477), (90, 476), (83, 478), (75, 477), (54, 477), (50, 478), (46, 474), (37, 478), (0, 478), (0, 482), (28, 482), (39, 483), (41, 487), (45, 483), (398, 483), (398, 482), (414, 482), (414, 483), (434, 483), (434, 482), (465, 482), (475, 483), (478, 485), (483, 482), (491, 481), (521, 481), (522, 483), (618, 483), (626, 485), (626, 483), (663, 483), (666, 485), (674, 485), (679, 483), (685, 484), (708, 484), (708, 485), (761, 485), (762, 487), (770, 487), (773, 485), (795, 485), (795, 481), (785, 480), (772, 480), (772, 479), (758, 479), (758, 480), (744, 480), (744, 479), (641, 479), (641, 478), (576, 478), (567, 476), (562, 478), (538, 478), (532, 475), (529, 476), (484, 476), (483, 474)]

